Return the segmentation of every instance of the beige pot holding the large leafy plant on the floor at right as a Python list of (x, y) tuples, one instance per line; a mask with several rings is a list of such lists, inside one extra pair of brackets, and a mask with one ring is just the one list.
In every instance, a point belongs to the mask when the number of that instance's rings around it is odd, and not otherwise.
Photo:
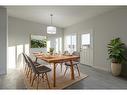
[(114, 76), (119, 76), (121, 73), (121, 64), (118, 63), (111, 63), (111, 71), (112, 71), (112, 75)]

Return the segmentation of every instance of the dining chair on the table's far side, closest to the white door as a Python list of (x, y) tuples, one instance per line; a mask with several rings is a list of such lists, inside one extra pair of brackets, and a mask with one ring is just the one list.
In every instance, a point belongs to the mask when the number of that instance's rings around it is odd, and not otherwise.
[[(72, 55), (75, 55), (75, 56), (79, 56), (79, 57), (80, 57), (80, 53), (77, 52), (77, 51), (74, 51), (74, 52), (72, 53)], [(74, 61), (73, 61), (73, 66), (77, 69), (78, 74), (79, 74), (79, 76), (80, 76), (80, 71), (79, 71), (79, 67), (78, 67), (78, 64), (79, 64), (79, 63), (80, 63), (80, 59), (77, 59), (77, 60), (74, 60)], [(66, 69), (65, 69), (65, 72), (64, 72), (64, 76), (65, 76), (65, 74), (66, 74), (68, 68), (71, 67), (70, 62), (65, 62), (65, 66), (66, 66)]]

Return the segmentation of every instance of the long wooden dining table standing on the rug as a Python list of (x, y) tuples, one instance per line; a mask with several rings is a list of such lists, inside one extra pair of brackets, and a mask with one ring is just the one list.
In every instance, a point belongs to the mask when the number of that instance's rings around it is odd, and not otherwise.
[(74, 80), (74, 68), (73, 68), (73, 61), (79, 59), (79, 56), (73, 55), (46, 55), (43, 53), (33, 53), (36, 57), (36, 61), (41, 59), (46, 61), (49, 64), (53, 64), (53, 86), (56, 87), (56, 64), (60, 63), (63, 64), (64, 62), (70, 62), (71, 64), (71, 80)]

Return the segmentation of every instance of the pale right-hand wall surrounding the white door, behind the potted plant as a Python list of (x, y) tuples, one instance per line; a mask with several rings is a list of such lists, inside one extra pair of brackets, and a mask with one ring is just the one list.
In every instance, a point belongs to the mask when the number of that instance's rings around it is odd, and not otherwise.
[(127, 44), (127, 7), (119, 8), (103, 15), (82, 21), (64, 29), (64, 36), (77, 33), (85, 33), (93, 30), (93, 67), (110, 70), (110, 62), (107, 60), (107, 44), (114, 37), (121, 37)]

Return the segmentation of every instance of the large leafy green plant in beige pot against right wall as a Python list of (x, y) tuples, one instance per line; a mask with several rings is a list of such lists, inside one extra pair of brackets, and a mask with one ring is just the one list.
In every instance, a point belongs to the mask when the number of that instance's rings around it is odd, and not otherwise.
[(120, 75), (121, 63), (125, 60), (123, 52), (125, 51), (124, 43), (120, 38), (115, 38), (108, 44), (108, 55), (111, 60), (111, 71), (114, 76)]

